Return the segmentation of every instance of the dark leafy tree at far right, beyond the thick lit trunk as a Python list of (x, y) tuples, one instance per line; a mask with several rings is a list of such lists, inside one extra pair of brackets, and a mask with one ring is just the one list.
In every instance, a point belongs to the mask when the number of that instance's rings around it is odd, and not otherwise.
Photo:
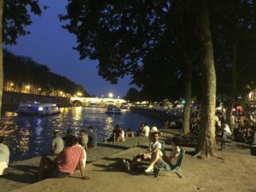
[[(227, 120), (238, 96), (245, 96), (255, 87), (256, 9), (253, 1), (225, 1), (224, 8), (212, 15), (216, 48), (218, 92), (227, 97)], [(224, 14), (225, 13), (225, 14)]]

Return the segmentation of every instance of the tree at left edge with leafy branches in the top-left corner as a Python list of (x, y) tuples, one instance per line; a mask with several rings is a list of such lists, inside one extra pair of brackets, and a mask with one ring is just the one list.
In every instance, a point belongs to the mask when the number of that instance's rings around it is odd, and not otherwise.
[(3, 96), (3, 43), (16, 44), (19, 36), (29, 33), (25, 29), (32, 24), (29, 13), (41, 15), (38, 0), (0, 0), (0, 113)]

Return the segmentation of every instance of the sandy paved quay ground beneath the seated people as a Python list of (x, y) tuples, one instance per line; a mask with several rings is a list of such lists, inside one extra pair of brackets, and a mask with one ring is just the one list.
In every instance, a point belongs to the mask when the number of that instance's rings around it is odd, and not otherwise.
[[(172, 133), (163, 131), (167, 139)], [(171, 131), (172, 132), (172, 131)], [(136, 146), (139, 147), (136, 147)], [(122, 159), (132, 159), (143, 152), (148, 145), (148, 138), (133, 137), (123, 143), (102, 143), (88, 151), (86, 174), (91, 178), (84, 181), (78, 177), (62, 179), (49, 178), (32, 183), (32, 176), (38, 170), (39, 158), (16, 162), (11, 165), (9, 176), (0, 178), (2, 191), (247, 191), (256, 192), (256, 159), (250, 156), (249, 148), (241, 143), (228, 143), (227, 148), (219, 151), (219, 158), (199, 160), (185, 155), (183, 178), (172, 172), (155, 178), (145, 175), (143, 170), (127, 173)], [(166, 150), (170, 145), (166, 145)], [(193, 148), (185, 148), (187, 151)]]

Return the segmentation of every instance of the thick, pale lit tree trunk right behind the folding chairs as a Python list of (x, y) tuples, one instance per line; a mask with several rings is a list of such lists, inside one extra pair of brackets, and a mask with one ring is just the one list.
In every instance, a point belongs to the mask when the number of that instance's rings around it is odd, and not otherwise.
[(196, 155), (218, 156), (215, 141), (215, 108), (216, 108), (216, 73), (214, 66), (212, 35), (207, 8), (207, 0), (199, 0), (200, 13), (198, 24), (200, 28), (201, 45), (203, 48), (201, 58), (202, 71), (202, 97), (201, 97), (201, 130), (195, 148)]

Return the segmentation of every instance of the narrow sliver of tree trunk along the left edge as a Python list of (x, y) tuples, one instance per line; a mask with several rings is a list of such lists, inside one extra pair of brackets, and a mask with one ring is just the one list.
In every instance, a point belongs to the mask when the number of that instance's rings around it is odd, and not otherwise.
[(3, 0), (0, 0), (0, 119), (3, 97)]

